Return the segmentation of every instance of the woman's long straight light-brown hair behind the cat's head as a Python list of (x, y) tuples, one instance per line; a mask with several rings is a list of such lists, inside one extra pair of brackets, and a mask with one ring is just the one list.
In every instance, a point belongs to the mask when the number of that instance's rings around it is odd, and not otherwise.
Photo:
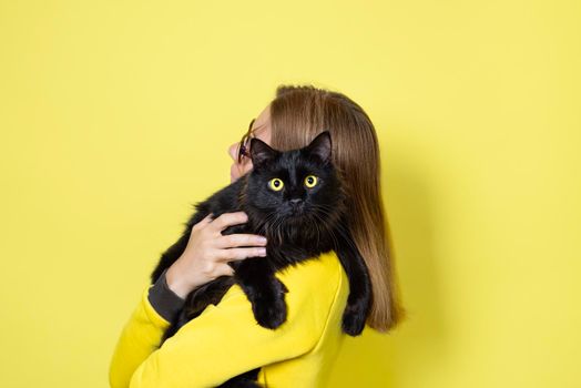
[(271, 103), (271, 145), (281, 151), (306, 146), (328, 130), (332, 159), (348, 194), (350, 232), (373, 284), (367, 325), (388, 331), (405, 318), (389, 254), (381, 201), (379, 144), (374, 124), (346, 95), (313, 85), (279, 85)]

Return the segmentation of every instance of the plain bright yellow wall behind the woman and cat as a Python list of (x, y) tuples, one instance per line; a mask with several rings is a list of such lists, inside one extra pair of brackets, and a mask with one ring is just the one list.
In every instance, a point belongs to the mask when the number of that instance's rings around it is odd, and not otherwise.
[(0, 386), (105, 387), (279, 83), (381, 145), (408, 320), (332, 387), (581, 386), (579, 1), (1, 1)]

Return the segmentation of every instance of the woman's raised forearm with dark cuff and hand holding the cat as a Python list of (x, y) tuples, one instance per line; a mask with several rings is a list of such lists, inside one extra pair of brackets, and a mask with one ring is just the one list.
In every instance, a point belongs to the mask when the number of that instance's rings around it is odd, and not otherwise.
[[(218, 276), (233, 275), (234, 269), (227, 261), (264, 255), (262, 251), (266, 241), (263, 236), (222, 235), (221, 232), (228, 226), (245, 222), (247, 215), (236, 212), (224, 213), (215, 219), (207, 215), (192, 226), (183, 254), (154, 276), (155, 285), (143, 293), (141, 303), (125, 324), (110, 367), (111, 387), (129, 387), (137, 366), (159, 348), (170, 321), (183, 307), (180, 299), (185, 300), (192, 289)], [(163, 270), (167, 277), (161, 276)], [(171, 280), (171, 290), (166, 279)]]

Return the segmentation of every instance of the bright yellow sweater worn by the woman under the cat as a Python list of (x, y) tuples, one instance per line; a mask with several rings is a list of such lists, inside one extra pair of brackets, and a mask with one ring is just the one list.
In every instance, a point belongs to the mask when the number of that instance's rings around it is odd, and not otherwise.
[(208, 305), (161, 347), (170, 323), (152, 307), (149, 287), (125, 324), (111, 359), (112, 388), (215, 387), (262, 366), (265, 387), (325, 387), (345, 334), (349, 283), (335, 252), (276, 274), (286, 285), (287, 320), (259, 326), (238, 285)]

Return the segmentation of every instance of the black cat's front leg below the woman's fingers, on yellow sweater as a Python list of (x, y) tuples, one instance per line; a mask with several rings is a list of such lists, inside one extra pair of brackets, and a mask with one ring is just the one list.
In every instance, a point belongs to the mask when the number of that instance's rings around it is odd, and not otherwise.
[(286, 286), (276, 278), (266, 257), (242, 261), (234, 274), (246, 294), (258, 325), (275, 329), (286, 320)]

